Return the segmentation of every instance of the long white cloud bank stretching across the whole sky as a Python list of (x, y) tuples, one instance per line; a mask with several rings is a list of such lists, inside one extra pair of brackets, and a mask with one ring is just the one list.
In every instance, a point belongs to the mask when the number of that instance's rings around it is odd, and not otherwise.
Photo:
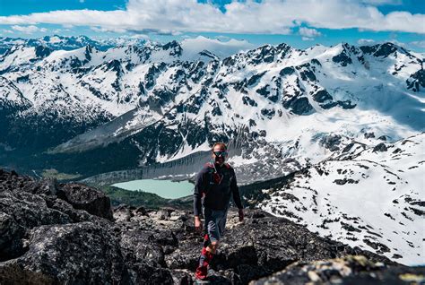
[(290, 34), (291, 29), (305, 24), (323, 29), (357, 28), (425, 33), (424, 14), (403, 11), (384, 14), (377, 9), (376, 5), (379, 3), (389, 2), (247, 0), (232, 1), (224, 5), (221, 11), (210, 1), (198, 3), (195, 0), (128, 0), (125, 10), (62, 10), (0, 16), (0, 24), (51, 23), (101, 27), (113, 31), (262, 34)]

